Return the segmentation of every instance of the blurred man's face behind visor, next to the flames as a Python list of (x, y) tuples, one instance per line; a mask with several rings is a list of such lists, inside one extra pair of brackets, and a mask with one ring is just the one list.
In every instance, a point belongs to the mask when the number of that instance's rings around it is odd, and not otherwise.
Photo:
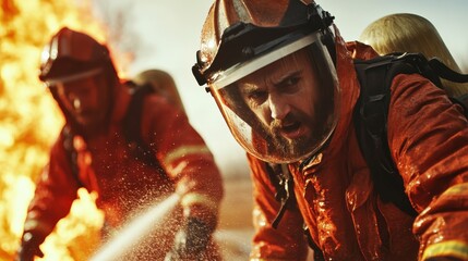
[(108, 107), (104, 74), (57, 85), (60, 101), (80, 126), (94, 132), (105, 120)]

